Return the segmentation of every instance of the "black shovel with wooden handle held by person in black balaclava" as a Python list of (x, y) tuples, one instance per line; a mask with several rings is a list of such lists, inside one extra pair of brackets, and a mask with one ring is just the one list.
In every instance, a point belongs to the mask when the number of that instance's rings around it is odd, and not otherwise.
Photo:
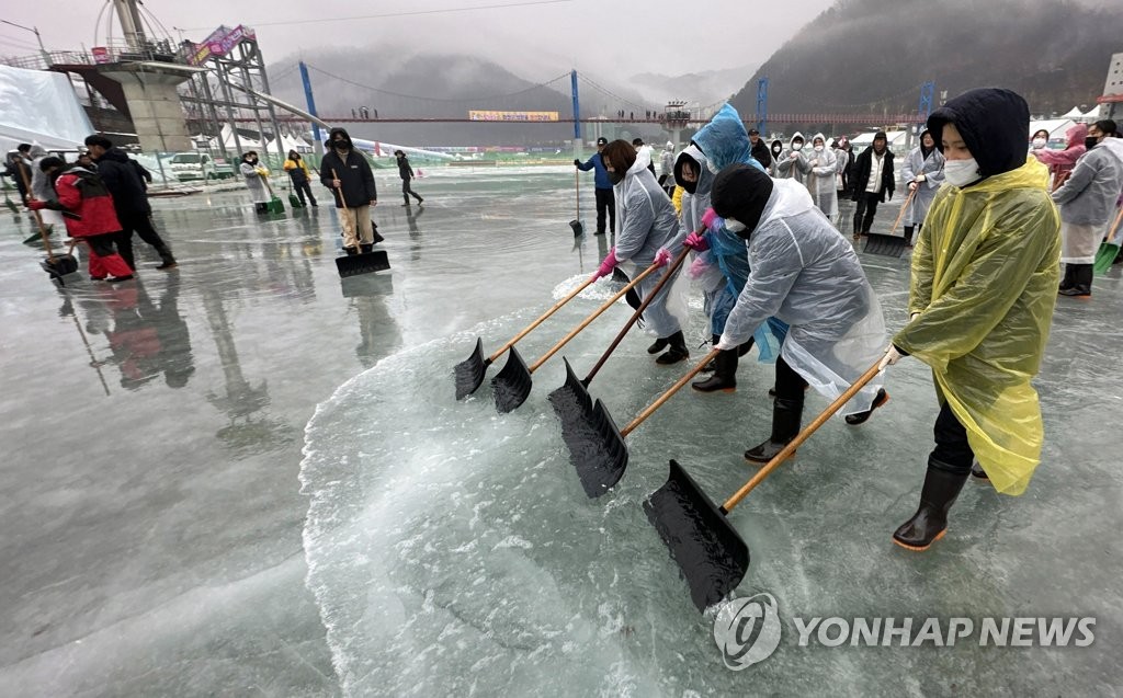
[(679, 378), (678, 383), (670, 386), (628, 426), (617, 429), (617, 423), (612, 421), (612, 415), (609, 414), (604, 403), (597, 399), (586, 419), (574, 421), (568, 435), (563, 431), (566, 446), (569, 447), (569, 460), (577, 469), (581, 485), (591, 499), (606, 493), (624, 476), (624, 470), (628, 469), (628, 447), (624, 446), (624, 437), (636, 431), (647, 417), (670, 399), (672, 395), (699, 375), (719, 351), (714, 349), (705, 355), (697, 366)]

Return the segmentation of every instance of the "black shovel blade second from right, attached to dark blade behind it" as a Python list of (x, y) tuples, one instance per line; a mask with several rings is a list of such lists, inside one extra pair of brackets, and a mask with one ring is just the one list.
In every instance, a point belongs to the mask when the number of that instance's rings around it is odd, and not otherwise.
[(575, 421), (563, 432), (569, 460), (590, 499), (608, 493), (628, 469), (628, 446), (612, 415), (600, 399), (587, 420)]

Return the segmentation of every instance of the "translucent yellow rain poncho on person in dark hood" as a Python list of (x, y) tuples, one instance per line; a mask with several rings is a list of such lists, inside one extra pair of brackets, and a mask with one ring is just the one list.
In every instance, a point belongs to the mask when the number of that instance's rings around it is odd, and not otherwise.
[(1044, 430), (1030, 385), (1060, 277), (1060, 217), (1035, 159), (967, 189), (944, 185), (912, 256), (909, 311), (893, 343), (932, 367), (995, 489), (1025, 492)]

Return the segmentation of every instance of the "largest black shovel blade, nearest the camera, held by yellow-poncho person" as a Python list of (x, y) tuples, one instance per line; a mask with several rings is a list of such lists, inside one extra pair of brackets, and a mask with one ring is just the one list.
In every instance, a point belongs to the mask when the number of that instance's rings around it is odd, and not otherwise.
[(643, 511), (678, 563), (699, 610), (741, 584), (749, 569), (749, 547), (725, 513), (674, 460), (666, 484), (643, 502)]

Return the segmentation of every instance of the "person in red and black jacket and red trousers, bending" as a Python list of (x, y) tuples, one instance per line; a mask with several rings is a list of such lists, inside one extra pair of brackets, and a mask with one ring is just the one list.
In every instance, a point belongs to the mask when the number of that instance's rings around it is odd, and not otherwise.
[(47, 175), (47, 181), (53, 182), (58, 201), (29, 201), (27, 208), (63, 212), (66, 231), (90, 246), (90, 278), (108, 282), (133, 278), (133, 269), (113, 246), (121, 224), (101, 178), (77, 165), (66, 169), (66, 163), (58, 157), (43, 158), (39, 168)]

